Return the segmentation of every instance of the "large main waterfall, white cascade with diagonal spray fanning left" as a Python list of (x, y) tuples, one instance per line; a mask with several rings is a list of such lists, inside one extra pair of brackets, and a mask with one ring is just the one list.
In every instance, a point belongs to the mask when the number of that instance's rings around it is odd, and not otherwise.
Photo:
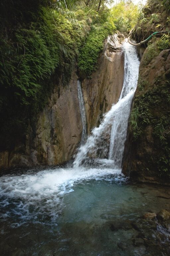
[(121, 168), (131, 101), (137, 86), (139, 70), (136, 48), (125, 42), (123, 50), (124, 84), (119, 101), (104, 115), (100, 126), (92, 130), (85, 145), (79, 148), (74, 160), (75, 168), (87, 157), (109, 158), (113, 160), (114, 168)]

